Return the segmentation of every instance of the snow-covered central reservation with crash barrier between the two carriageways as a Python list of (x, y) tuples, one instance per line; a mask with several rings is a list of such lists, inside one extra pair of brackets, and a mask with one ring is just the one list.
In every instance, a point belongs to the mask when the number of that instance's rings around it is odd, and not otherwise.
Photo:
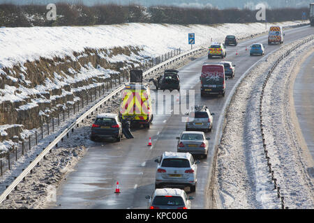
[[(301, 42), (301, 40), (298, 40)], [(298, 42), (297, 41), (297, 42)], [(260, 130), (260, 93), (267, 72), (291, 45), (282, 47), (254, 68), (238, 86), (227, 109), (226, 125), (218, 149), (216, 178), (220, 208), (281, 208), (264, 155)], [(294, 106), (290, 77), (313, 41), (292, 52), (278, 64), (264, 89), (262, 117), (265, 144), (277, 184), (289, 208), (314, 208), (311, 155), (300, 145), (298, 122), (290, 114)], [(310, 159), (310, 160), (309, 160)]]

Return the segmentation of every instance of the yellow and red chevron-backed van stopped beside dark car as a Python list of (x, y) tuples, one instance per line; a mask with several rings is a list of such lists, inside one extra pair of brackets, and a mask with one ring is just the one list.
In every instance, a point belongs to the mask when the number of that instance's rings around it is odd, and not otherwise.
[(149, 128), (153, 121), (149, 86), (141, 83), (127, 84), (122, 91), (119, 114), (121, 120), (129, 120), (130, 123), (143, 124), (144, 128)]

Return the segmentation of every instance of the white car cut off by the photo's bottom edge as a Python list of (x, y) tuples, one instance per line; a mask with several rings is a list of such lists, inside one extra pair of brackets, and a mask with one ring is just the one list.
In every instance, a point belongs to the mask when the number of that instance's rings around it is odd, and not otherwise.
[(145, 198), (149, 199), (149, 209), (190, 209), (190, 200), (193, 199), (179, 188), (156, 189), (151, 196)]

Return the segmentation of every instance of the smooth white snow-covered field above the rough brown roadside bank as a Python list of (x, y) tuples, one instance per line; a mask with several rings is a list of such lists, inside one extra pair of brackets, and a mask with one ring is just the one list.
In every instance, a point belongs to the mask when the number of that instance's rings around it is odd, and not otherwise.
[[(276, 23), (282, 26), (300, 24)], [(270, 26), (271, 24), (268, 24)], [(143, 47), (145, 56), (160, 56), (172, 49), (190, 49), (188, 33), (195, 33), (195, 47), (222, 41), (230, 34), (243, 38), (266, 31), (263, 23), (206, 25), (119, 24), (81, 27), (32, 27), (0, 29), (0, 73), (3, 67), (34, 61), (40, 57), (73, 58), (73, 52), (85, 48), (111, 49), (113, 47)], [(75, 57), (74, 57), (75, 59)]]

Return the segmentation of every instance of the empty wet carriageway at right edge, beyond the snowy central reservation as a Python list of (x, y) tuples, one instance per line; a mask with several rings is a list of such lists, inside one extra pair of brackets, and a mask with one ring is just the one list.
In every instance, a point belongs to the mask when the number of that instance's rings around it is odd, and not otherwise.
[(301, 64), (294, 82), (294, 107), (299, 125), (314, 158), (314, 53)]

